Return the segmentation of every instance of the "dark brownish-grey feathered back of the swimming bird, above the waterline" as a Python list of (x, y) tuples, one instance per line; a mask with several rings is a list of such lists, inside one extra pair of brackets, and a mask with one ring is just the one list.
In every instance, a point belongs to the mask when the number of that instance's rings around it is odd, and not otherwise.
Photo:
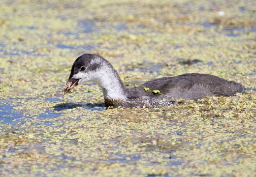
[[(227, 81), (209, 74), (182, 74), (175, 77), (155, 79), (140, 86), (151, 90), (158, 89), (161, 93), (183, 99), (200, 99), (205, 96), (234, 96), (236, 92), (244, 92), (241, 84)], [(157, 97), (150, 91), (132, 89), (130, 97)]]

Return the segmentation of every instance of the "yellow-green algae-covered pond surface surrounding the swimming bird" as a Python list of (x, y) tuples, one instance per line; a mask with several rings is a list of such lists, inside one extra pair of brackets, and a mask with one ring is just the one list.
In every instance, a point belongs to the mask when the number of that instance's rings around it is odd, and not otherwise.
[(2, 176), (256, 175), (255, 91), (107, 110), (90, 83), (63, 96), (83, 53), (128, 87), (198, 72), (255, 89), (253, 0), (0, 3), (0, 104), (20, 115), (0, 122)]

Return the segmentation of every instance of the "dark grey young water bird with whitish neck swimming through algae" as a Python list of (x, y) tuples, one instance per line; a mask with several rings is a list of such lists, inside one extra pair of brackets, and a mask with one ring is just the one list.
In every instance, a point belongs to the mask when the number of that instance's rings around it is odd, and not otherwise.
[(96, 54), (83, 54), (72, 65), (64, 94), (89, 81), (102, 89), (107, 108), (162, 107), (172, 105), (180, 98), (198, 100), (206, 96), (227, 97), (245, 91), (239, 83), (199, 73), (163, 77), (137, 88), (126, 88), (109, 61)]

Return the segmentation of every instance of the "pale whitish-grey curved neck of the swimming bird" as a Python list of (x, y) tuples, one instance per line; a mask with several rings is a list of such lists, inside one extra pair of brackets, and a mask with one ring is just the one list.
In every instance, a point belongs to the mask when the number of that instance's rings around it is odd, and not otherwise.
[(104, 65), (99, 74), (95, 82), (102, 88), (105, 100), (126, 99), (126, 89), (117, 71), (111, 65)]

